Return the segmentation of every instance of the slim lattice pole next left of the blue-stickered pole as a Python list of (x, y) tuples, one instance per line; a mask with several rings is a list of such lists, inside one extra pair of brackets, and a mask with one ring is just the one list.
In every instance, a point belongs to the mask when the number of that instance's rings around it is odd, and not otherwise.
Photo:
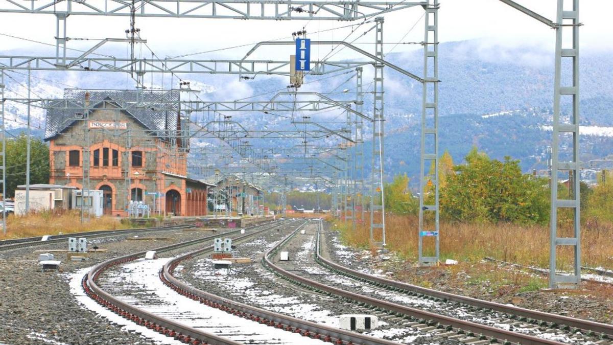
[[(383, 17), (375, 18), (375, 56), (383, 60)], [(370, 242), (385, 247), (385, 198), (383, 191), (383, 67), (375, 63), (375, 88), (373, 99), (373, 157), (370, 191)], [(380, 229), (380, 231), (379, 231)], [(380, 235), (379, 235), (380, 233)]]

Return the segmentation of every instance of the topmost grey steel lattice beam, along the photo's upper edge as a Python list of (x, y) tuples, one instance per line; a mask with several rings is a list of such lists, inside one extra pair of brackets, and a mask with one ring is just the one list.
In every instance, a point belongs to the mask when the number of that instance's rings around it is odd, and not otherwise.
[(295, 0), (1, 0), (0, 12), (23, 14), (112, 15), (129, 17), (222, 18), (259, 20), (364, 20), (387, 12), (424, 6), (425, 1)]

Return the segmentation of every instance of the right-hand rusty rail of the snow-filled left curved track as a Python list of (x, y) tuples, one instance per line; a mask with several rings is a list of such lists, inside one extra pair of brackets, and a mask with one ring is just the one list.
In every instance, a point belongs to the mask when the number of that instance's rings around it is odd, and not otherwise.
[[(302, 223), (302, 225), (297, 227), (296, 230), (294, 230), (292, 232), (292, 235), (290, 236), (295, 235), (295, 233), (297, 233), (300, 228), (302, 228), (307, 223), (308, 221)], [(253, 234), (249, 235), (253, 236)], [(243, 239), (246, 236), (247, 235), (241, 236), (237, 238), (237, 240)], [(295, 317), (279, 314), (277, 312), (272, 312), (254, 306), (249, 306), (248, 304), (239, 303), (228, 298), (219, 297), (218, 295), (213, 295), (212, 293), (208, 293), (203, 290), (196, 289), (190, 285), (187, 285), (179, 281), (176, 277), (172, 275), (173, 270), (178, 265), (178, 263), (182, 262), (183, 260), (192, 258), (196, 255), (202, 255), (205, 252), (210, 251), (211, 249), (212, 247), (207, 247), (204, 249), (196, 250), (196, 252), (181, 255), (180, 257), (170, 260), (166, 263), (166, 265), (164, 265), (164, 268), (162, 270), (162, 277), (166, 279), (166, 281), (172, 287), (175, 287), (175, 290), (177, 290), (177, 292), (183, 295), (187, 295), (188, 297), (197, 299), (202, 303), (207, 303), (207, 305), (210, 306), (221, 306), (224, 311), (227, 311), (229, 313), (241, 316), (248, 316), (252, 320), (260, 320), (260, 322), (262, 323), (277, 328), (284, 328), (287, 331), (294, 331), (296, 333), (300, 333), (303, 336), (319, 336), (324, 341), (330, 341), (339, 345), (398, 345), (398, 343), (395, 343), (394, 341), (379, 339), (373, 336), (362, 335), (352, 331), (341, 330), (340, 328), (316, 324), (315, 322), (297, 319)], [(270, 251), (271, 250), (268, 250), (264, 254), (264, 257), (270, 254)]]

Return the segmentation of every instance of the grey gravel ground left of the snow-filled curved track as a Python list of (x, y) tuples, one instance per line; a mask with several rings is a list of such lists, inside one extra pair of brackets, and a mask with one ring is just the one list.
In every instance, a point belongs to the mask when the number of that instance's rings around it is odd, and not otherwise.
[[(226, 231), (226, 230), (219, 230)], [(109, 249), (91, 253), (86, 262), (70, 262), (56, 253), (61, 272), (40, 271), (34, 250), (66, 249), (66, 244), (48, 244), (0, 252), (0, 343), (8, 344), (151, 344), (151, 339), (122, 330), (83, 309), (69, 289), (69, 276), (78, 269), (108, 258), (153, 249), (174, 242), (210, 236), (213, 231), (154, 231), (138, 236), (170, 238), (158, 241), (126, 241), (128, 237), (97, 238), (88, 244)], [(179, 235), (180, 234), (180, 235)]]

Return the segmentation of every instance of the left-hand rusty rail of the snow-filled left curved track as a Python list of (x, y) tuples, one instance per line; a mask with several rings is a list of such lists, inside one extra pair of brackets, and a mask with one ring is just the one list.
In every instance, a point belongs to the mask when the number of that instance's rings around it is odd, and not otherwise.
[[(270, 222), (268, 222), (270, 223)], [(265, 223), (263, 225), (268, 225)], [(274, 223), (274, 222), (273, 222)], [(253, 227), (261, 227), (263, 225), (254, 225)], [(273, 227), (275, 227), (273, 225)], [(269, 230), (270, 228), (265, 228), (265, 230)], [(249, 229), (248, 228), (248, 229)], [(226, 235), (238, 233), (241, 230), (229, 231), (225, 233)], [(262, 230), (263, 231), (263, 230)], [(249, 234), (251, 235), (251, 234)], [(200, 242), (208, 241), (210, 239), (214, 239), (218, 234), (205, 236), (204, 238), (193, 239), (191, 241), (180, 242), (177, 244), (171, 244), (170, 246), (159, 247), (156, 250), (158, 252), (166, 252), (173, 249), (178, 249), (181, 247), (192, 246), (194, 244), (198, 244)], [(137, 252), (133, 254), (123, 255), (118, 258), (112, 258), (110, 260), (106, 260), (102, 262), (94, 268), (92, 268), (84, 277), (82, 281), (83, 289), (85, 293), (89, 295), (93, 300), (97, 303), (102, 304), (106, 308), (111, 309), (113, 312), (120, 314), (120, 316), (125, 317), (126, 319), (132, 320), (137, 324), (143, 325), (147, 328), (159, 331), (160, 333), (173, 336), (173, 338), (179, 339), (183, 342), (192, 344), (192, 345), (200, 345), (200, 344), (211, 344), (211, 345), (237, 345), (235, 341), (230, 339), (223, 338), (221, 336), (213, 335), (211, 333), (207, 333), (205, 331), (197, 330), (196, 328), (189, 327), (187, 325), (183, 325), (180, 322), (175, 322), (172, 320), (168, 320), (164, 317), (157, 316), (151, 312), (145, 311), (143, 309), (132, 306), (131, 304), (125, 303), (118, 298), (113, 297), (110, 293), (105, 292), (101, 287), (96, 284), (97, 278), (100, 276), (102, 272), (106, 269), (109, 269), (112, 266), (120, 265), (122, 263), (131, 262), (136, 260), (137, 258), (142, 257), (147, 253), (148, 250), (143, 250), (142, 252)]]

